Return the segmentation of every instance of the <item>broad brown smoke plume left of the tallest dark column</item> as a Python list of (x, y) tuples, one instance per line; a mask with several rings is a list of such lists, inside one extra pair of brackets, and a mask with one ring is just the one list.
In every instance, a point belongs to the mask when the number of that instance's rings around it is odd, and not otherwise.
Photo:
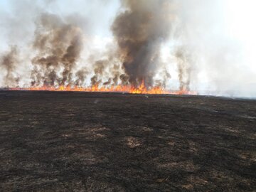
[[(70, 85), (82, 50), (82, 32), (53, 14), (42, 14), (37, 23), (33, 48), (31, 84)], [(62, 70), (61, 75), (57, 72)]]

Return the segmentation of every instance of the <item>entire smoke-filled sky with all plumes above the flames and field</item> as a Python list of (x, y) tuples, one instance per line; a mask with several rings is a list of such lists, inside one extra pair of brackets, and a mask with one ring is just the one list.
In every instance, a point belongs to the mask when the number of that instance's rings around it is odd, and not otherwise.
[(1, 87), (144, 82), (147, 88), (207, 95), (256, 95), (252, 1), (5, 4), (0, 5)]

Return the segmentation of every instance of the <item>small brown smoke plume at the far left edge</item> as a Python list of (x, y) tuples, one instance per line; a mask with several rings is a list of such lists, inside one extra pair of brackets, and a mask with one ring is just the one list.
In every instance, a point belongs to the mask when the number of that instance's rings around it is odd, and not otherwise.
[(14, 75), (17, 64), (18, 51), (16, 46), (11, 46), (11, 50), (1, 55), (0, 58), (0, 68), (6, 70), (6, 75), (4, 76), (4, 84), (6, 87), (15, 87), (18, 84), (18, 78)]

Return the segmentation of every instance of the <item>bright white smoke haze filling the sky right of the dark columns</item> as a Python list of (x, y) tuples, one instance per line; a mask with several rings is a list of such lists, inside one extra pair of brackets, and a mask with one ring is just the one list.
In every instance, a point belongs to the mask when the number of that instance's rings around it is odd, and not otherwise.
[[(193, 0), (176, 1), (176, 5), (174, 35), (163, 52), (166, 62), (176, 63), (174, 52), (182, 46), (190, 57), (191, 90), (255, 97), (255, 1)], [(177, 69), (171, 70), (170, 82), (177, 87)]]

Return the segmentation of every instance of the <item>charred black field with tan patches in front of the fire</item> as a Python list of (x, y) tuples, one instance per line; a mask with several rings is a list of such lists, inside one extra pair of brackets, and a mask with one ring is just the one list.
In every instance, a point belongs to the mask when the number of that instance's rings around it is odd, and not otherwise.
[(0, 92), (0, 191), (256, 191), (256, 100)]

